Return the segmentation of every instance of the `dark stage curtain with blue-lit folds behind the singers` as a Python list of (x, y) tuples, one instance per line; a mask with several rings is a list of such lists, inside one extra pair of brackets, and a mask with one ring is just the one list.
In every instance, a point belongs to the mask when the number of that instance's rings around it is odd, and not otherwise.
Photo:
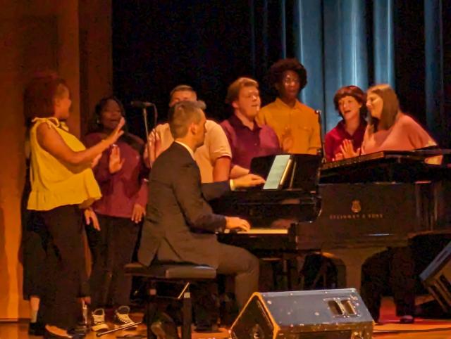
[[(156, 103), (166, 120), (169, 91), (190, 84), (223, 120), (234, 79), (257, 79), (266, 104), (275, 95), (268, 68), (296, 56), (308, 73), (300, 98), (323, 110), (326, 131), (339, 120), (338, 88), (387, 82), (448, 146), (449, 22), (446, 0), (113, 0), (113, 87), (125, 103)], [(144, 135), (140, 113), (128, 114)]]

